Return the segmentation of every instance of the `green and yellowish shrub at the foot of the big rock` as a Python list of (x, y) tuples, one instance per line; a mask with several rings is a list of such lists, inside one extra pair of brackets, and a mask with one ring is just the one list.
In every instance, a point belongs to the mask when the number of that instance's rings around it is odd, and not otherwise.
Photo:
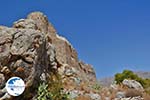
[(62, 79), (58, 73), (51, 73), (48, 83), (38, 87), (37, 100), (70, 100), (69, 94), (63, 90)]

